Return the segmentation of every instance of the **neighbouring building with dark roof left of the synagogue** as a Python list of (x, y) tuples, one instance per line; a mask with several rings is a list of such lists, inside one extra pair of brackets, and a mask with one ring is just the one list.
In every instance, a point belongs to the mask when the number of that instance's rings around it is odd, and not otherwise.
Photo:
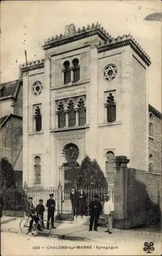
[(1, 158), (12, 164), (22, 182), (22, 79), (0, 86)]

